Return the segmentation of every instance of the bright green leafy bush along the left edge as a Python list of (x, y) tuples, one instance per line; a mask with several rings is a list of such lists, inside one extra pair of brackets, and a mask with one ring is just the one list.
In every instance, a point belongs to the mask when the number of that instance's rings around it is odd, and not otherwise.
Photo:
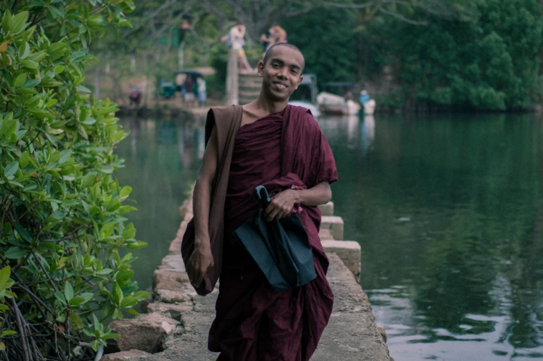
[[(123, 165), (114, 147), (127, 134), (116, 105), (90, 100), (81, 85), (94, 59), (91, 40), (129, 26), (124, 12), (134, 4), (16, 4), (0, 3), (0, 262), (11, 267), (24, 322), (35, 331), (26, 337), (44, 355), (71, 360), (78, 342), (97, 350), (116, 337), (104, 320), (137, 314), (148, 296), (131, 281), (134, 258), (125, 252), (145, 246), (125, 224), (124, 213), (135, 210), (126, 204), (132, 189), (114, 177)], [(6, 341), (8, 355), (17, 340)]]

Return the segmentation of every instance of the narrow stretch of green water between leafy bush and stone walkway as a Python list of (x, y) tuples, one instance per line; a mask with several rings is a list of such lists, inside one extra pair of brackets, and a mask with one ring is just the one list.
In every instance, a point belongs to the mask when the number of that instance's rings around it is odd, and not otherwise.
[(121, 118), (130, 136), (117, 147), (125, 159), (119, 182), (132, 186), (137, 212), (127, 213), (137, 238), (149, 243), (134, 252), (139, 263), (134, 279), (149, 288), (152, 272), (168, 254), (179, 227), (179, 206), (192, 187), (204, 149), (202, 119)]

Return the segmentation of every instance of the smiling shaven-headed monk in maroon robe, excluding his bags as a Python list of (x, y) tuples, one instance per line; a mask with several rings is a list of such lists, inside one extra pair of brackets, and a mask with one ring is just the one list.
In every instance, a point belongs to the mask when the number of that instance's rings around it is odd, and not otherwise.
[[(240, 123), (224, 197), (222, 258), (213, 256), (209, 231), (216, 225), (209, 220), (211, 204), (216, 201), (213, 184), (222, 164), (218, 146), (222, 120), (216, 118), (220, 109), (208, 114), (207, 125), (215, 125), (194, 188), (195, 245), (187, 272), (197, 288), (211, 268), (221, 263), (216, 317), (208, 338), (208, 349), (220, 352), (217, 361), (309, 360), (332, 312), (333, 294), (326, 280), (328, 258), (319, 239), (317, 206), (330, 201), (330, 183), (337, 180), (337, 170), (328, 141), (308, 109), (288, 105), (303, 78), (304, 66), (296, 46), (272, 46), (258, 63), (260, 95), (252, 103), (237, 106)], [(258, 212), (253, 190), (260, 184), (273, 195), (265, 209), (267, 220), (296, 212), (308, 233), (317, 278), (299, 288), (273, 290), (232, 234)], [(213, 284), (208, 288), (211, 292)]]

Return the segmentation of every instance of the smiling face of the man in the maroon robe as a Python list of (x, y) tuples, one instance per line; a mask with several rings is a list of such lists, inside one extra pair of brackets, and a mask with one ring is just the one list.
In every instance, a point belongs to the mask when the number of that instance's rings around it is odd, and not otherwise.
[(262, 94), (273, 102), (287, 101), (298, 89), (303, 77), (303, 55), (289, 46), (274, 46), (258, 62), (258, 75), (262, 76)]

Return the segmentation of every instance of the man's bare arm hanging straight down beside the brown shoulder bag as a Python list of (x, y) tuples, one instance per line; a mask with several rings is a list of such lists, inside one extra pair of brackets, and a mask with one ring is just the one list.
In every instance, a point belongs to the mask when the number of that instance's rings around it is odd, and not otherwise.
[(195, 286), (202, 283), (206, 271), (214, 263), (209, 240), (209, 211), (211, 186), (217, 172), (217, 143), (217, 129), (213, 127), (193, 192), (195, 249), (188, 261), (187, 274)]

